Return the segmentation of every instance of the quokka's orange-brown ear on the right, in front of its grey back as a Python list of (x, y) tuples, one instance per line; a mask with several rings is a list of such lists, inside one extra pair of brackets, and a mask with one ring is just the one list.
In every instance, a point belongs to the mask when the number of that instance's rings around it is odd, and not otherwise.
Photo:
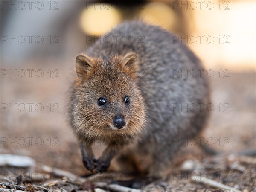
[(138, 55), (129, 52), (127, 53), (121, 62), (122, 69), (125, 70), (125, 72), (131, 76), (133, 79), (136, 78), (136, 71), (138, 71)]

